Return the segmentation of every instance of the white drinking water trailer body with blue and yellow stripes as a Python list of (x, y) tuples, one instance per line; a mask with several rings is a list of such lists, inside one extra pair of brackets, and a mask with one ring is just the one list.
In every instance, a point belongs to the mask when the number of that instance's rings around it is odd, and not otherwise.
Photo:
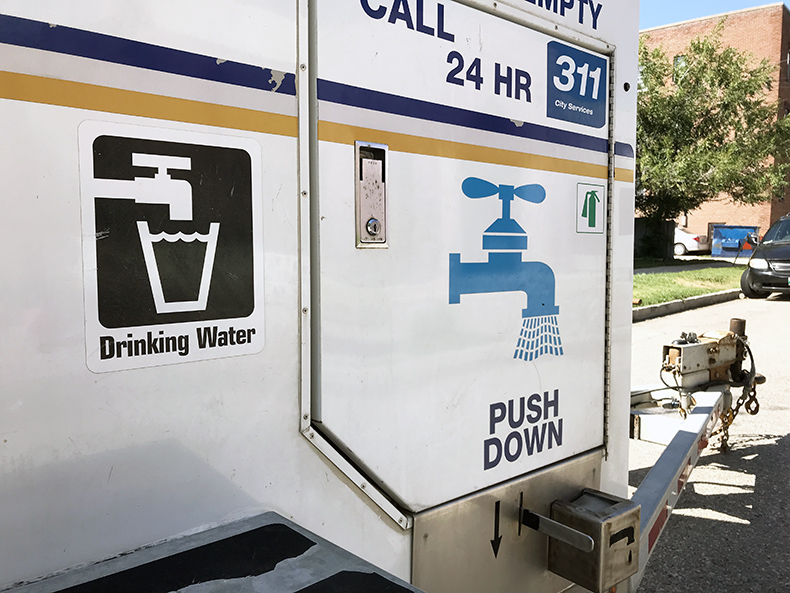
[(633, 590), (637, 17), (0, 0), (0, 590)]

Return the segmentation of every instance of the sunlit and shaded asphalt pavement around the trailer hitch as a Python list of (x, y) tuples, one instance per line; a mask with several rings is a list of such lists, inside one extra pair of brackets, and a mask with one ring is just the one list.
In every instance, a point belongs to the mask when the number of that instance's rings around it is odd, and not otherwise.
[[(681, 332), (746, 320), (757, 371), (756, 416), (741, 412), (728, 453), (703, 453), (648, 563), (639, 593), (790, 592), (790, 296), (737, 299), (633, 325), (633, 386), (655, 384), (661, 349)], [(740, 390), (734, 391), (734, 396)], [(631, 441), (632, 490), (663, 447)]]

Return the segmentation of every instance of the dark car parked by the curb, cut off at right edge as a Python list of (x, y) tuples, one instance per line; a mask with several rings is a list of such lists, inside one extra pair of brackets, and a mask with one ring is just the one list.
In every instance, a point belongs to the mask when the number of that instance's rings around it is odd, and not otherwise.
[(790, 214), (777, 220), (756, 244), (749, 265), (741, 275), (741, 292), (750, 299), (764, 299), (772, 292), (790, 293)]

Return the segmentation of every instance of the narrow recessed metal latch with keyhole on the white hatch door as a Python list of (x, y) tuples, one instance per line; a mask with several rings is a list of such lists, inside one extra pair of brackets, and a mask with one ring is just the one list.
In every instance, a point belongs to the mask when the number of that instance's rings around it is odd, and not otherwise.
[(387, 146), (355, 142), (357, 248), (387, 247)]

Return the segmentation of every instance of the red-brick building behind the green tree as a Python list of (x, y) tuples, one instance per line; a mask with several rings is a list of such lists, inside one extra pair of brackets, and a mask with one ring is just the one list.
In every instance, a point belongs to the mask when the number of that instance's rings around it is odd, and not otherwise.
[[(673, 60), (683, 54), (691, 40), (709, 34), (722, 19), (723, 44), (748, 51), (757, 61), (765, 58), (776, 65), (771, 89), (773, 97), (769, 96), (769, 100), (779, 103), (781, 117), (790, 114), (790, 11), (783, 3), (645, 29), (641, 35), (648, 46), (660, 46)], [(722, 195), (682, 216), (678, 226), (709, 237), (713, 224), (758, 226), (763, 234), (771, 223), (788, 212), (790, 185), (784, 197), (755, 205), (736, 204), (729, 196)]]

